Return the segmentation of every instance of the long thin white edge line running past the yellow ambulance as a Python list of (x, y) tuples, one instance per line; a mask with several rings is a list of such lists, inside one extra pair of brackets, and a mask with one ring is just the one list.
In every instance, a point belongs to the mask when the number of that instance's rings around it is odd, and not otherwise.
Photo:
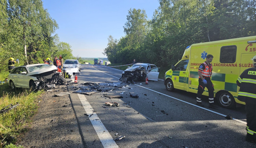
[[(96, 69), (96, 68), (95, 68), (95, 69)], [(96, 69), (96, 70), (97, 70), (97, 69)], [(98, 70), (98, 71), (100, 71), (100, 70)], [(100, 71), (100, 72), (101, 72), (101, 71)], [(103, 72), (103, 73), (104, 73), (104, 72)], [(106, 73), (105, 73), (105, 74), (106, 74)], [(109, 75), (109, 74), (108, 74), (108, 75)], [(112, 76), (112, 75), (110, 75), (110, 76)], [(115, 77), (115, 76), (113, 76), (113, 77)], [(117, 78), (117, 77), (116, 77), (116, 78)], [(118, 78), (118, 79), (119, 79), (119, 78)], [(137, 85), (137, 84), (135, 84), (135, 85)], [(140, 85), (137, 85), (137, 86), (139, 86), (139, 87), (143, 87), (143, 86), (140, 86)], [(172, 99), (175, 99), (175, 100), (178, 100), (178, 101), (181, 101), (181, 102), (184, 102), (184, 103), (187, 103), (187, 104), (193, 105), (193, 106), (195, 106), (195, 107), (198, 107), (198, 108), (201, 108), (201, 109), (207, 110), (207, 111), (212, 112), (212, 113), (215, 113), (215, 114), (217, 114), (217, 115), (221, 115), (221, 116), (223, 116), (223, 117), (226, 117), (226, 115), (224, 115), (224, 114), (217, 113), (217, 112), (214, 112), (214, 111), (212, 111), (212, 110), (210, 110), (210, 109), (203, 108), (203, 107), (201, 107), (201, 106), (197, 106), (197, 105), (195, 105), (195, 104), (192, 104), (192, 103), (189, 103), (189, 102), (186, 102), (186, 101), (183, 101), (183, 100), (180, 100), (180, 99), (177, 99), (177, 98), (171, 97), (170, 95), (163, 94), (163, 93), (161, 93), (161, 92), (158, 92), (158, 91), (155, 91), (155, 90), (152, 90), (152, 89), (146, 88), (146, 87), (143, 87), (143, 88), (148, 89), (148, 90), (151, 90), (151, 91), (154, 91), (154, 92), (156, 92), (156, 93), (160, 93), (160, 94), (165, 95), (165, 96), (167, 96), (167, 97), (170, 97), (170, 98), (172, 98)], [(233, 118), (232, 120), (238, 121), (238, 122), (240, 122), (240, 123), (247, 124), (246, 122), (244, 122), (244, 121), (242, 121), (242, 120), (239, 120), (239, 119), (236, 119), (236, 118)]]

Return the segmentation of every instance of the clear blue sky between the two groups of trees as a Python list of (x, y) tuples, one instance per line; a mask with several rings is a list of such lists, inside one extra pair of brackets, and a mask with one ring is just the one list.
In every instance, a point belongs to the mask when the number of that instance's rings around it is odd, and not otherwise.
[[(55, 34), (60, 42), (71, 45), (74, 56), (106, 57), (103, 50), (112, 35), (119, 40), (125, 36), (128, 10), (144, 9), (151, 19), (158, 8), (158, 0), (42, 0), (59, 25)], [(53, 34), (54, 35), (54, 34)]]

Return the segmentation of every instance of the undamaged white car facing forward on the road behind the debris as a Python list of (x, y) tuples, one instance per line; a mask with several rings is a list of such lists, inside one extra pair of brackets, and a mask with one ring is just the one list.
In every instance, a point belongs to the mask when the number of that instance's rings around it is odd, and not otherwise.
[(81, 63), (78, 60), (67, 59), (63, 63), (62, 71), (68, 73), (69, 75), (80, 75)]

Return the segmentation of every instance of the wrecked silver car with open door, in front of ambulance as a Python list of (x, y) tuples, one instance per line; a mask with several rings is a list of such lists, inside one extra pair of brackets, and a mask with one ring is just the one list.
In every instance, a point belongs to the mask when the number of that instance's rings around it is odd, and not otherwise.
[(148, 80), (158, 80), (159, 69), (154, 64), (149, 63), (136, 63), (131, 67), (128, 66), (119, 81), (136, 82)]

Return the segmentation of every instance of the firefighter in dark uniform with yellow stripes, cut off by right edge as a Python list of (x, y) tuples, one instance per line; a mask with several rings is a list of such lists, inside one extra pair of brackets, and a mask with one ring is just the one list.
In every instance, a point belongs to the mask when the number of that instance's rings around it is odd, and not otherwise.
[(256, 56), (252, 58), (253, 68), (246, 69), (237, 79), (240, 87), (238, 100), (245, 102), (246, 141), (256, 143)]

